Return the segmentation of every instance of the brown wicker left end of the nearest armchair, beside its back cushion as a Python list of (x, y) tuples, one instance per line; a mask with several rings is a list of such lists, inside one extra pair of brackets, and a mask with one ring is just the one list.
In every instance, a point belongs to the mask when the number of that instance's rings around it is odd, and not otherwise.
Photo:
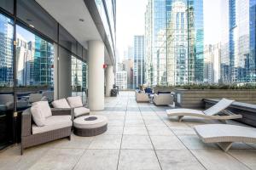
[(32, 114), (30, 108), (21, 114), (21, 137), (30, 136), (32, 134)]

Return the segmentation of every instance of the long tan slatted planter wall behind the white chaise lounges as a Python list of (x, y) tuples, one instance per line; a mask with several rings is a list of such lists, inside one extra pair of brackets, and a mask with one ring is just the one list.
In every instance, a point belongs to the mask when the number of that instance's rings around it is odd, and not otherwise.
[(175, 89), (175, 95), (177, 106), (191, 109), (204, 109), (203, 99), (227, 98), (256, 104), (255, 89)]

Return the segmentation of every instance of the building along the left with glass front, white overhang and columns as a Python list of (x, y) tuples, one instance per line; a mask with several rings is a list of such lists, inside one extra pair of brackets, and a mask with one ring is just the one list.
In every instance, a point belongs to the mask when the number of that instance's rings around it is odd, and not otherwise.
[(0, 100), (10, 106), (0, 111), (0, 150), (20, 140), (13, 113), (31, 106), (23, 98), (30, 93), (84, 98), (88, 87), (87, 107), (104, 110), (104, 86), (109, 96), (114, 84), (115, 34), (115, 0), (0, 1)]

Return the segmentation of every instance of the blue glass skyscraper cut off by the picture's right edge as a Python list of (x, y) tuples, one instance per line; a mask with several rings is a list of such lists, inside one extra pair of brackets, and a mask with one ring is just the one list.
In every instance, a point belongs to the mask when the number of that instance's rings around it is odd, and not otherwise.
[[(255, 83), (255, 0), (222, 2), (221, 82)], [(228, 12), (227, 12), (228, 11)]]

